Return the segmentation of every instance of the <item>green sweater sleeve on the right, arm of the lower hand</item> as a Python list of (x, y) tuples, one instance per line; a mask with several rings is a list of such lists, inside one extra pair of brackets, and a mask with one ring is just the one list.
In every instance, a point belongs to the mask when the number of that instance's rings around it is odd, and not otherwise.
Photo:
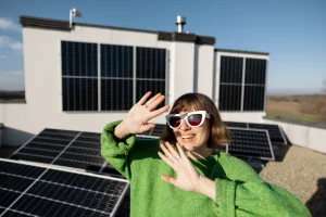
[(221, 216), (311, 216), (296, 196), (265, 182), (244, 162), (231, 156), (224, 161), (231, 166), (224, 166), (225, 178), (215, 179)]

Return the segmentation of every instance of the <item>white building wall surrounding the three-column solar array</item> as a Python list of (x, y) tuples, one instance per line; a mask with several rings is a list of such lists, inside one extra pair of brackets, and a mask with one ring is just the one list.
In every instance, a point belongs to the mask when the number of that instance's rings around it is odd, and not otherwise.
[[(101, 132), (125, 112), (63, 112), (61, 41), (167, 49), (167, 102), (193, 91), (193, 42), (159, 41), (155, 33), (76, 26), (73, 31), (23, 28), (26, 104), (1, 104), (4, 144), (22, 144), (45, 128)], [(153, 123), (165, 123), (164, 115)]]

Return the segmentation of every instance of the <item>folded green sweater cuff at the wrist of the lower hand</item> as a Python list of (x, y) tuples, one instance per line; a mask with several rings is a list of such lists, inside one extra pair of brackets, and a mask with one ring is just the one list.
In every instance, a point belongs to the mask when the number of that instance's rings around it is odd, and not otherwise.
[(216, 186), (216, 203), (220, 208), (221, 216), (236, 216), (236, 182), (225, 179), (215, 179)]

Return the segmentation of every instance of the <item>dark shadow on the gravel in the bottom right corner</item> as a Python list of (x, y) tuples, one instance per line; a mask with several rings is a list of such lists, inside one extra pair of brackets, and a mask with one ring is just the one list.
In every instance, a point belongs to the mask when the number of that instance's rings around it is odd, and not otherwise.
[(326, 178), (318, 179), (317, 191), (305, 205), (313, 217), (326, 216)]

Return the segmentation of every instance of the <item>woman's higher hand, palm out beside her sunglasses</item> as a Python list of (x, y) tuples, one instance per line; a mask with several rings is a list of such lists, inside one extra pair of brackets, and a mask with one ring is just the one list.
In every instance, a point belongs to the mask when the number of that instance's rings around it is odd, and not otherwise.
[(124, 120), (116, 126), (114, 130), (115, 137), (123, 139), (130, 133), (142, 133), (148, 131), (155, 126), (148, 122), (168, 111), (168, 105), (155, 110), (165, 99), (164, 95), (158, 93), (148, 100), (150, 94), (151, 92), (147, 92), (139, 102), (130, 108)]

